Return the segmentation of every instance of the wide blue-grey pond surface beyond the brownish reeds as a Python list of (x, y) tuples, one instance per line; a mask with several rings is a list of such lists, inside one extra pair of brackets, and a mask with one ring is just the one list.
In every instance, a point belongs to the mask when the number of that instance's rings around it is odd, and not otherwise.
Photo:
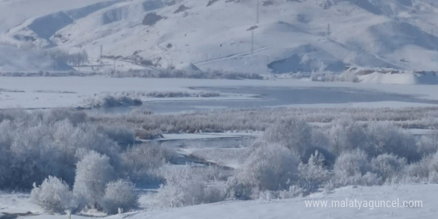
[[(399, 102), (438, 105), (438, 101), (422, 100), (414, 96), (383, 93), (371, 90), (329, 87), (196, 87), (196, 90), (220, 93), (252, 94), (256, 100), (215, 100), (215, 101), (152, 101), (140, 107), (153, 112), (182, 112), (191, 110), (261, 107), (333, 107), (333, 105), (381, 102)], [(367, 105), (368, 106), (368, 105)], [(396, 107), (396, 106), (394, 106)], [(134, 108), (99, 109), (106, 112), (125, 112)]]

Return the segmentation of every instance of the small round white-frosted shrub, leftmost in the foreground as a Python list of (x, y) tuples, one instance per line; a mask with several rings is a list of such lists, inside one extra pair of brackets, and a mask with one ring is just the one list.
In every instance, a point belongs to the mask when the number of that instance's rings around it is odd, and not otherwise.
[(40, 186), (33, 185), (30, 198), (48, 213), (64, 214), (75, 207), (75, 199), (66, 182), (49, 176)]

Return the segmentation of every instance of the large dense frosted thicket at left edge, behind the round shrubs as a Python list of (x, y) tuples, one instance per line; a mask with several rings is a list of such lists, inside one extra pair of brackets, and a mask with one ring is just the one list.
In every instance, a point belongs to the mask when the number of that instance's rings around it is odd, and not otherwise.
[(95, 150), (118, 166), (119, 146), (83, 112), (0, 111), (0, 189), (27, 190), (48, 176), (74, 183), (75, 164)]

